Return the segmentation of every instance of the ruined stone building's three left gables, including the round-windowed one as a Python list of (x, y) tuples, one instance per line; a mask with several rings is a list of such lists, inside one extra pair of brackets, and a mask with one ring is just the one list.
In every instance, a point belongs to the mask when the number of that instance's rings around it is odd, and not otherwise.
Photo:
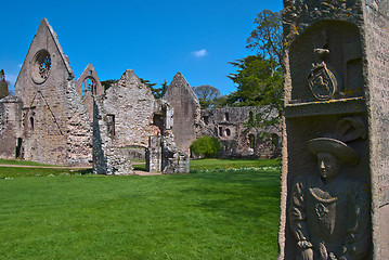
[(107, 174), (133, 173), (131, 160), (152, 171), (189, 172), (176, 147), (173, 109), (127, 70), (106, 93), (92, 64), (76, 80), (57, 37), (43, 18), (15, 82), (0, 100), (0, 156), (87, 166)]

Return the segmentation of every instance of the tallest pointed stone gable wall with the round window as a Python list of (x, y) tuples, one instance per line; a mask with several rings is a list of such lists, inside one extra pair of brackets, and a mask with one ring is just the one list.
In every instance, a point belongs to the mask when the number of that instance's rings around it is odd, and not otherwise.
[(25, 159), (53, 165), (91, 161), (89, 115), (76, 92), (68, 58), (46, 18), (23, 63), (15, 95), (23, 101), (15, 133)]

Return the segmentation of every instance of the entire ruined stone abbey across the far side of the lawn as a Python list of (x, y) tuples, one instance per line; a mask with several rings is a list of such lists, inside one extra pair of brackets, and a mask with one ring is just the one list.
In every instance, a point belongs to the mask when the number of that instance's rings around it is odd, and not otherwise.
[[(106, 91), (88, 64), (78, 79), (56, 34), (43, 18), (15, 82), (0, 100), (0, 157), (51, 165), (92, 166), (95, 173), (131, 174), (131, 161), (150, 171), (189, 172), (191, 143), (203, 134), (223, 143), (222, 156), (276, 156), (280, 131), (247, 129), (255, 109), (200, 109), (181, 73), (157, 100), (133, 70)], [(272, 140), (258, 138), (260, 131)]]

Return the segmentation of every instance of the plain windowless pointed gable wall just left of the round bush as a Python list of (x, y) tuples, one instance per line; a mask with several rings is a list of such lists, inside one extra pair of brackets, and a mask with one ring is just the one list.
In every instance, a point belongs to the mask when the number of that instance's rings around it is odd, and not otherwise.
[(190, 155), (190, 146), (196, 140), (196, 126), (200, 116), (197, 96), (183, 75), (178, 73), (163, 99), (174, 107), (174, 127), (172, 131), (177, 147)]

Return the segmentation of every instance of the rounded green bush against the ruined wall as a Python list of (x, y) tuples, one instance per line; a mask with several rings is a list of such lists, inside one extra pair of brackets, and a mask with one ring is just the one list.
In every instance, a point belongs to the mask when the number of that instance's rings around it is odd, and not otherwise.
[(221, 143), (217, 138), (205, 135), (192, 143), (191, 151), (196, 156), (204, 156), (205, 158), (216, 157), (221, 151)]

